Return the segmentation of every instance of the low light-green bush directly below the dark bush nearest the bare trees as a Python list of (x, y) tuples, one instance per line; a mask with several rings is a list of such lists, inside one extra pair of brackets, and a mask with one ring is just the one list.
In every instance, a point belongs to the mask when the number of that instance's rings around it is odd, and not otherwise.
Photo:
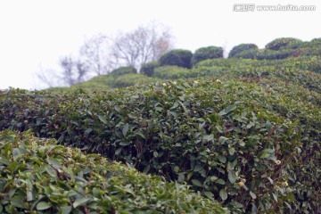
[(190, 78), (191, 75), (191, 70), (177, 66), (161, 66), (154, 70), (154, 77), (162, 79)]

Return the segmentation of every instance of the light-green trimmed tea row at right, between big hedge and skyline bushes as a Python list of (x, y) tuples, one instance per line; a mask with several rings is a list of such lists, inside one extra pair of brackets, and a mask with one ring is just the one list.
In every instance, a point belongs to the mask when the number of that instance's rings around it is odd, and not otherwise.
[[(276, 61), (216, 59), (200, 62), (191, 73), (226, 78), (281, 78), (321, 93), (321, 57), (301, 56)], [(191, 77), (195, 77), (191, 76)]]

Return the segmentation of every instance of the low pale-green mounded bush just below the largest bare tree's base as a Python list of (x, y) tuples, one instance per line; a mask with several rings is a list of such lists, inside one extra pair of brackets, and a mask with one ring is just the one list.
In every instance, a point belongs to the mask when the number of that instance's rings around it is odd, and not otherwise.
[(139, 84), (145, 84), (151, 82), (150, 78), (147, 78), (143, 74), (125, 74), (115, 79), (114, 87), (126, 87), (136, 86)]

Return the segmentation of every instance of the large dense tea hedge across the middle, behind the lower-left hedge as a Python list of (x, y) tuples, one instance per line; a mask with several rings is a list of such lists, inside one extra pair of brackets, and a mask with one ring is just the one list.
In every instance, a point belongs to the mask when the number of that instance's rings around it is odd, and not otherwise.
[(230, 210), (319, 209), (320, 169), (311, 167), (320, 160), (319, 106), (307, 108), (308, 95), (282, 85), (204, 79), (90, 96), (11, 90), (1, 97), (0, 128), (32, 128), (187, 182)]

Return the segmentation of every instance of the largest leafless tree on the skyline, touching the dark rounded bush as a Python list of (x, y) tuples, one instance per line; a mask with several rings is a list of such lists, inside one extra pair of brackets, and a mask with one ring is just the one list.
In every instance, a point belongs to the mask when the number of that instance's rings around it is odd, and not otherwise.
[(173, 47), (173, 37), (169, 28), (152, 22), (138, 29), (119, 33), (112, 39), (111, 57), (118, 65), (133, 66), (139, 69), (146, 62), (157, 61), (161, 54)]

